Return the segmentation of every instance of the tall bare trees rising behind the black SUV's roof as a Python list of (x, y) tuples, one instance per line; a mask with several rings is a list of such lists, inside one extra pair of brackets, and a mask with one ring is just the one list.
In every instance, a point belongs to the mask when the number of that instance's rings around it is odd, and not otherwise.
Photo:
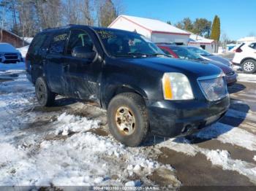
[(121, 0), (0, 0), (0, 28), (34, 36), (68, 24), (108, 26), (123, 8)]

